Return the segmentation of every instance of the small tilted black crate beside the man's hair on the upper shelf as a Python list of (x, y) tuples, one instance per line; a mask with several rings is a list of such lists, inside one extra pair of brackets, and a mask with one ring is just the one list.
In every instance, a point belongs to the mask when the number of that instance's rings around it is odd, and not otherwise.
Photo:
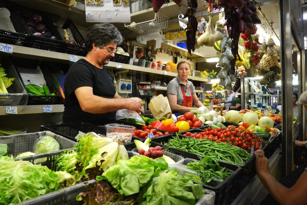
[(81, 35), (80, 31), (76, 28), (75, 24), (69, 18), (66, 20), (66, 22), (62, 26), (62, 29), (68, 29), (68, 28), (70, 30), (70, 33), (74, 37), (75, 42), (78, 45), (72, 45), (64, 41), (64, 44), (63, 44), (64, 53), (78, 55), (78, 56), (86, 56), (87, 55), (86, 48), (81, 47), (81, 45), (85, 43), (84, 37)]

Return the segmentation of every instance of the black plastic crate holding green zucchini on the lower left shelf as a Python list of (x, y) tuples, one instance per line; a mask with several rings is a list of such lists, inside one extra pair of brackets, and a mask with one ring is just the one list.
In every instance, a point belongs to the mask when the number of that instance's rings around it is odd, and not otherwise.
[(48, 71), (48, 69), (41, 69), (43, 73), (44, 79), (46, 81), (46, 85), (49, 89), (50, 93), (54, 93), (55, 95), (31, 95), (28, 90), (25, 88), (25, 84), (22, 81), (21, 75), (18, 71), (18, 68), (28, 68), (28, 69), (36, 69), (37, 61), (28, 60), (23, 58), (14, 58), (13, 59), (15, 69), (18, 73), (19, 78), (21, 79), (21, 83), (25, 92), (28, 94), (28, 103), (27, 105), (39, 105), (39, 104), (60, 104), (62, 103), (61, 93), (59, 89), (56, 87), (52, 77)]

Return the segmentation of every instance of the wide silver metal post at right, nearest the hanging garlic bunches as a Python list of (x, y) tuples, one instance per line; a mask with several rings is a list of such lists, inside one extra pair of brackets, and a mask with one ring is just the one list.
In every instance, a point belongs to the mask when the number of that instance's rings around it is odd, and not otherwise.
[(279, 0), (280, 53), (282, 77), (282, 165), (283, 174), (292, 171), (293, 160), (293, 107), (292, 107), (292, 42), (290, 1)]

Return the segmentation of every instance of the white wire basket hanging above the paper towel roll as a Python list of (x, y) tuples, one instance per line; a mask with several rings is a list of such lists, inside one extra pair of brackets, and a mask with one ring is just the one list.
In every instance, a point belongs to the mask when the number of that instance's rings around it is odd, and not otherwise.
[(153, 20), (136, 23), (133, 25), (126, 25), (125, 23), (125, 27), (127, 27), (130, 30), (133, 30), (138, 34), (146, 34), (156, 30), (164, 30), (165, 28), (167, 28), (168, 20), (169, 18), (167, 16), (158, 12), (155, 13)]

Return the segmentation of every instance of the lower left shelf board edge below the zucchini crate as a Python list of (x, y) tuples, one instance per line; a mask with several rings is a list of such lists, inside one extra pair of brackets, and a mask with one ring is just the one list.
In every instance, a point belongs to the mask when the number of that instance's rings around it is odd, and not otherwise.
[[(54, 104), (51, 106), (52, 106), (52, 113), (64, 112), (64, 104)], [(17, 105), (14, 107), (17, 107), (17, 115), (44, 113), (43, 112), (44, 105), (26, 105), (26, 106)], [(0, 116), (1, 115), (14, 115), (14, 114), (6, 113), (6, 106), (0, 106)]]

